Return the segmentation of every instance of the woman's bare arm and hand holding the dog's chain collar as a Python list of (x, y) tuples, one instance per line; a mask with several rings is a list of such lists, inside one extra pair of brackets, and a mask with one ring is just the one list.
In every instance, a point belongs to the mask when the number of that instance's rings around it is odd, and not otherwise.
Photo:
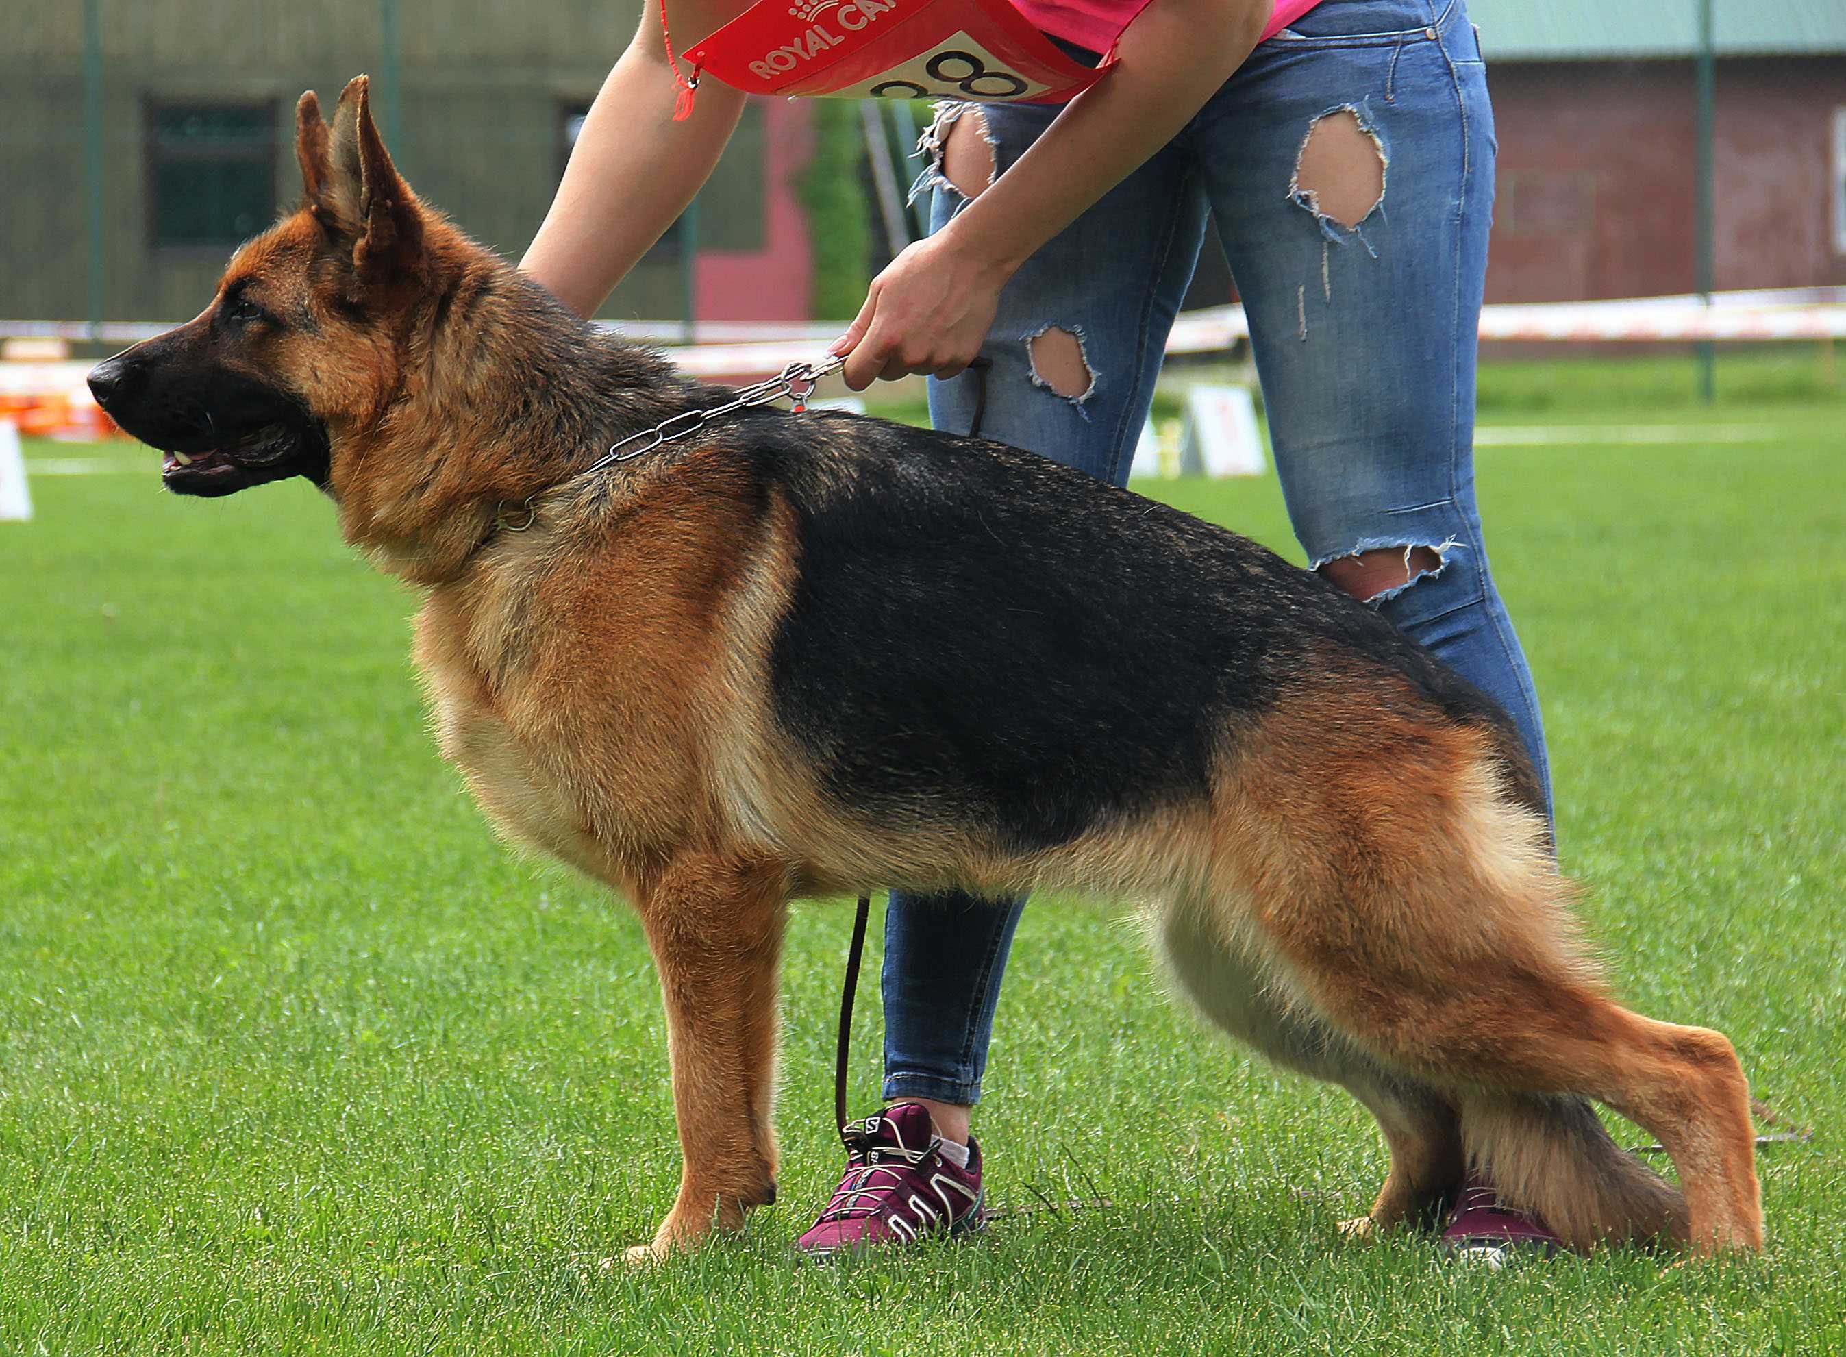
[[(1178, 135), (1263, 35), (1270, 0), (1152, 0), (1117, 65), (949, 225), (871, 282), (834, 353), (845, 384), (953, 377), (980, 351), (1006, 279), (1084, 209)], [(973, 129), (969, 129), (973, 131)]]

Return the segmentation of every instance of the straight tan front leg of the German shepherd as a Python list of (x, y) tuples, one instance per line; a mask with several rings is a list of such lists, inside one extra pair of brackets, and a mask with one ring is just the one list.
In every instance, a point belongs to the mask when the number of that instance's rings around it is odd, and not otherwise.
[(631, 1261), (665, 1257), (775, 1200), (775, 977), (788, 875), (716, 857), (674, 862), (641, 894), (666, 1001), (679, 1198)]

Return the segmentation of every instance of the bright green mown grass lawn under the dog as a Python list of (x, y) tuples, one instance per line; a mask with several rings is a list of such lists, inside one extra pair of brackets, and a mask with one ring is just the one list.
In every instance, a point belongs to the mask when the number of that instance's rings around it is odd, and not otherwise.
[[(1685, 421), (1595, 414), (1650, 417)], [(1384, 1171), (1370, 1117), (1169, 1004), (1119, 918), (1049, 899), (978, 1134), (999, 1204), (1111, 1206), (796, 1265), (840, 1165), (849, 925), (803, 907), (781, 1204), (600, 1274), (677, 1171), (635, 918), (493, 840), (425, 733), (415, 600), (314, 491), (179, 500), (146, 452), (30, 447), (122, 469), (39, 476), (39, 519), (0, 524), (0, 1351), (1846, 1350), (1846, 436), (1839, 406), (1724, 421), (1776, 438), (1495, 447), (1480, 493), (1621, 991), (1730, 1032), (1816, 1135), (1763, 1154), (1761, 1259), (1501, 1274), (1342, 1244)], [(1292, 552), (1272, 480), (1157, 489)]]

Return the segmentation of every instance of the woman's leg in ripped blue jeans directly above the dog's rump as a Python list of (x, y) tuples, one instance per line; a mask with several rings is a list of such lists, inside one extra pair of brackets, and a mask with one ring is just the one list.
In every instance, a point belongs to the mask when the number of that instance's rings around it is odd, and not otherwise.
[(1324, 0), (1194, 124), (1314, 569), (1493, 696), (1551, 781), (1475, 506), (1493, 113), (1462, 0)]

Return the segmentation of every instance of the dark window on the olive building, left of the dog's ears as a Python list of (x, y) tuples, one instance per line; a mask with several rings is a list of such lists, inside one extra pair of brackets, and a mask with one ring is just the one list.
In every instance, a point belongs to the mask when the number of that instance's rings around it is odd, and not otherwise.
[(148, 234), (155, 249), (223, 249), (273, 218), (273, 105), (148, 105)]

